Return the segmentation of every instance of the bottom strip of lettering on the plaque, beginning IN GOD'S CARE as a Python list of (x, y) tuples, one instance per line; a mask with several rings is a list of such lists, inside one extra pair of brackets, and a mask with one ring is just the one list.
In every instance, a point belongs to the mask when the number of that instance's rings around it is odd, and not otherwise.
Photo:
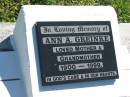
[(63, 75), (63, 76), (50, 76), (46, 77), (46, 82), (81, 80), (81, 79), (92, 79), (92, 78), (102, 78), (112, 76), (117, 76), (117, 72), (108, 71), (108, 72), (83, 73), (83, 74)]

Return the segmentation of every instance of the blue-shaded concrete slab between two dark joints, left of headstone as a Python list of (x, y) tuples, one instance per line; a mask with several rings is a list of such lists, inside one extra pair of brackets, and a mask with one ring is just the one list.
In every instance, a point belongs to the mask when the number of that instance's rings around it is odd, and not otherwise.
[(0, 80), (21, 79), (16, 51), (0, 52)]

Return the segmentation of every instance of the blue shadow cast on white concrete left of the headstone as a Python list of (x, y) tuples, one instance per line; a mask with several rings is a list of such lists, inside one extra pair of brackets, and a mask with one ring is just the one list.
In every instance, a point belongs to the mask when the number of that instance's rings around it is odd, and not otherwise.
[(0, 91), (6, 97), (27, 97), (21, 80), (19, 59), (10, 37), (0, 43), (0, 82)]

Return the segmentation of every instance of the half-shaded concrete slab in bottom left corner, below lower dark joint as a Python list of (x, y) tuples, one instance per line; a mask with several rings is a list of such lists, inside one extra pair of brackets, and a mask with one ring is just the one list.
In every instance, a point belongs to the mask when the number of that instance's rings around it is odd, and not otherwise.
[(27, 97), (23, 81), (0, 81), (0, 97)]

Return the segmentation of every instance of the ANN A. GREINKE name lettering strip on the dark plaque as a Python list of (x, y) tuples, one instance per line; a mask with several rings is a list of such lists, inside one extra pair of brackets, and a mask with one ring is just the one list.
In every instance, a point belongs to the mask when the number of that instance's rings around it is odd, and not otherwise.
[(70, 44), (110, 42), (109, 35), (67, 36), (67, 37), (43, 37), (43, 44)]

